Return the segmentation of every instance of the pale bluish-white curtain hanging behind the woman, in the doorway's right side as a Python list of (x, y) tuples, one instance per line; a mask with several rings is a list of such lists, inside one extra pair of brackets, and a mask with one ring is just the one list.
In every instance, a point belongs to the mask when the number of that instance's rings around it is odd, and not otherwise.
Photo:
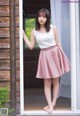
[[(62, 0), (50, 0), (51, 23), (57, 27), (59, 39), (66, 55), (70, 60), (70, 16), (69, 4)], [(71, 97), (70, 72), (60, 78), (60, 94), (62, 97)]]

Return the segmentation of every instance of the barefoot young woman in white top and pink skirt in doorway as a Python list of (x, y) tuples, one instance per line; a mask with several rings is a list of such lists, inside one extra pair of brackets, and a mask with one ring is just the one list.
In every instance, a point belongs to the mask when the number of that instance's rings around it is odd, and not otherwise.
[[(44, 80), (44, 93), (48, 103), (44, 110), (52, 113), (58, 98), (59, 78), (70, 70), (70, 63), (59, 42), (57, 28), (50, 25), (50, 13), (47, 9), (43, 8), (38, 12), (31, 40), (28, 40), (24, 31), (23, 38), (31, 50), (36, 42), (40, 47), (36, 78)], [(51, 99), (51, 85), (53, 85), (53, 99)]]

